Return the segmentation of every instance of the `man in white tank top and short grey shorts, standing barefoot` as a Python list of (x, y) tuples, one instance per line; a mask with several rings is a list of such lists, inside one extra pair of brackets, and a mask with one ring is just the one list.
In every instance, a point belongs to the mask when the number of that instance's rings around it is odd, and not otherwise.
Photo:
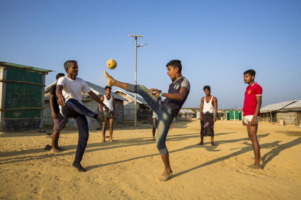
[(103, 101), (105, 105), (109, 108), (110, 111), (103, 111), (102, 106), (99, 104), (98, 108), (100, 112), (104, 113), (105, 121), (103, 121), (103, 139), (101, 142), (105, 142), (105, 135), (106, 135), (106, 127), (107, 127), (107, 121), (109, 120), (109, 133), (110, 133), (110, 142), (115, 142), (115, 140), (112, 139), (113, 135), (113, 124), (114, 124), (114, 116), (116, 116), (116, 108), (115, 108), (115, 98), (111, 95), (112, 88), (109, 86), (106, 86), (104, 88), (106, 95), (103, 95), (100, 100)]

